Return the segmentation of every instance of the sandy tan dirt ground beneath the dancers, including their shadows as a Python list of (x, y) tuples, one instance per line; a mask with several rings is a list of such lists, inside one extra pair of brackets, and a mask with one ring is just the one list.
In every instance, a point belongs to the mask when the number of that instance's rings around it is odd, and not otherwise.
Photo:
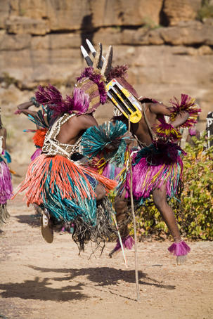
[[(213, 242), (191, 242), (183, 266), (170, 242), (138, 243), (140, 300), (136, 301), (134, 250), (110, 259), (87, 245), (80, 256), (68, 233), (41, 237), (34, 208), (22, 196), (8, 202), (11, 218), (0, 234), (0, 318), (212, 319)], [(91, 258), (90, 258), (91, 257)]]

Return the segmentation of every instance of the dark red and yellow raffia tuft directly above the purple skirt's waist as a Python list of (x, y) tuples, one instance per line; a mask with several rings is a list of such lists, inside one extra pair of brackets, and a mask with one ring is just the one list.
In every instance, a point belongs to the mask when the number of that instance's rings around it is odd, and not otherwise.
[(165, 122), (164, 119), (158, 119), (160, 121), (160, 124), (155, 125), (154, 131), (157, 134), (157, 136), (160, 136), (161, 138), (169, 139), (172, 141), (178, 141), (181, 139), (181, 134), (179, 131), (174, 129), (174, 127), (171, 124), (168, 124)]

